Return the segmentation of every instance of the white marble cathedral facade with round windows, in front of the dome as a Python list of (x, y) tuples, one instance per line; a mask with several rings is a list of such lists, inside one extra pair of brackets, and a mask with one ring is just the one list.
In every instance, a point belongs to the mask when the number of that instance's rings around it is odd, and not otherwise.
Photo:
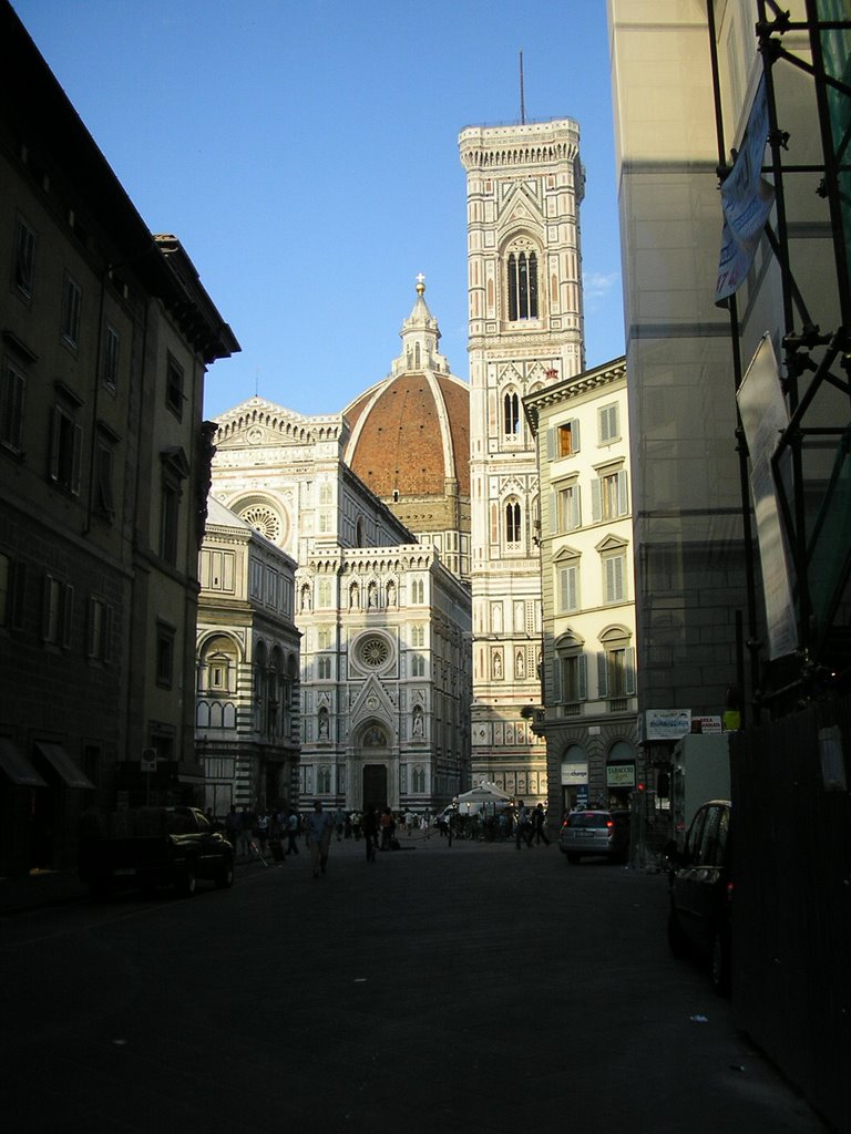
[(449, 802), (470, 781), (469, 589), (352, 472), (347, 417), (252, 398), (217, 424), (212, 494), (298, 565), (300, 794)]

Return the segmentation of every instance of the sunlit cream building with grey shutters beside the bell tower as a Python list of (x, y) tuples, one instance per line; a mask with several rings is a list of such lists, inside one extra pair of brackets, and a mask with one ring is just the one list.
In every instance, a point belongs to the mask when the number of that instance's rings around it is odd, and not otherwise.
[(630, 420), (624, 358), (524, 399), (538, 442), (550, 819), (629, 807), (638, 747)]

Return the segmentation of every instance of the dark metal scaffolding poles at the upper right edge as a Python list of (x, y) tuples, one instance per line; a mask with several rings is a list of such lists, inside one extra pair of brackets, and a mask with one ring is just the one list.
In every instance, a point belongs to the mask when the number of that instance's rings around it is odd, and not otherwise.
[[(718, 177), (732, 174), (724, 141), (722, 90), (717, 58), (715, 6), (707, 0), (715, 86)], [(782, 391), (787, 424), (772, 457), (777, 510), (792, 567), (792, 599), (797, 649), (766, 661), (760, 657), (756, 611), (756, 569), (752, 553), (752, 502), (749, 452), (739, 421), (738, 441), (742, 489), (743, 536), (748, 549), (749, 610), (747, 648), (755, 714), (760, 705), (783, 713), (791, 705), (851, 682), (851, 19), (844, 0), (804, 0), (806, 18), (793, 20), (776, 0), (757, 0), (757, 46), (762, 64), (768, 119), (769, 163), (761, 174), (774, 194), (764, 237), (776, 260), (782, 294)], [(800, 44), (806, 42), (806, 53)], [(787, 43), (799, 45), (795, 52)], [(820, 159), (795, 163), (790, 134), (784, 129), (777, 98), (778, 68), (794, 68), (811, 83), (818, 120)], [(795, 279), (790, 231), (797, 218), (790, 208), (791, 179), (809, 178), (812, 192), (828, 206), (833, 244), (833, 276), (819, 287), (831, 291), (836, 325), (824, 328), (810, 311), (804, 288)], [(795, 183), (798, 188), (798, 183)], [(740, 315), (735, 294), (724, 299), (730, 312), (736, 392), (743, 380)], [(829, 318), (833, 318), (831, 315)], [(840, 423), (825, 423), (818, 413), (827, 388), (844, 397)], [(835, 397), (835, 395), (834, 395)], [(829, 472), (825, 473), (825, 454)], [(814, 458), (810, 462), (809, 458)], [(815, 459), (817, 458), (817, 460)], [(817, 471), (814, 467), (817, 466)], [(744, 686), (744, 650), (740, 651)]]

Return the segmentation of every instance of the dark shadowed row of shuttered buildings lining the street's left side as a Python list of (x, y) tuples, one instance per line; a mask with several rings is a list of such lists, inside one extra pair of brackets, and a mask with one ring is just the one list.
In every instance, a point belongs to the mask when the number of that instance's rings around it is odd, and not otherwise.
[[(0, 873), (192, 799), (207, 367), (239, 346), (0, 3)], [(153, 763), (155, 772), (142, 771)]]

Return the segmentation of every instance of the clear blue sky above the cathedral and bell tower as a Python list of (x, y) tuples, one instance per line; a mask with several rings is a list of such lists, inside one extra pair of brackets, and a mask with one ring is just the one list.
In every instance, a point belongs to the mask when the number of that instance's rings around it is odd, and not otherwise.
[(467, 378), (457, 136), (520, 120), (521, 51), (526, 121), (580, 125), (588, 365), (623, 352), (605, 0), (12, 6), (242, 345), (208, 374), (208, 417), (255, 391), (338, 413), (389, 372), (418, 272)]

